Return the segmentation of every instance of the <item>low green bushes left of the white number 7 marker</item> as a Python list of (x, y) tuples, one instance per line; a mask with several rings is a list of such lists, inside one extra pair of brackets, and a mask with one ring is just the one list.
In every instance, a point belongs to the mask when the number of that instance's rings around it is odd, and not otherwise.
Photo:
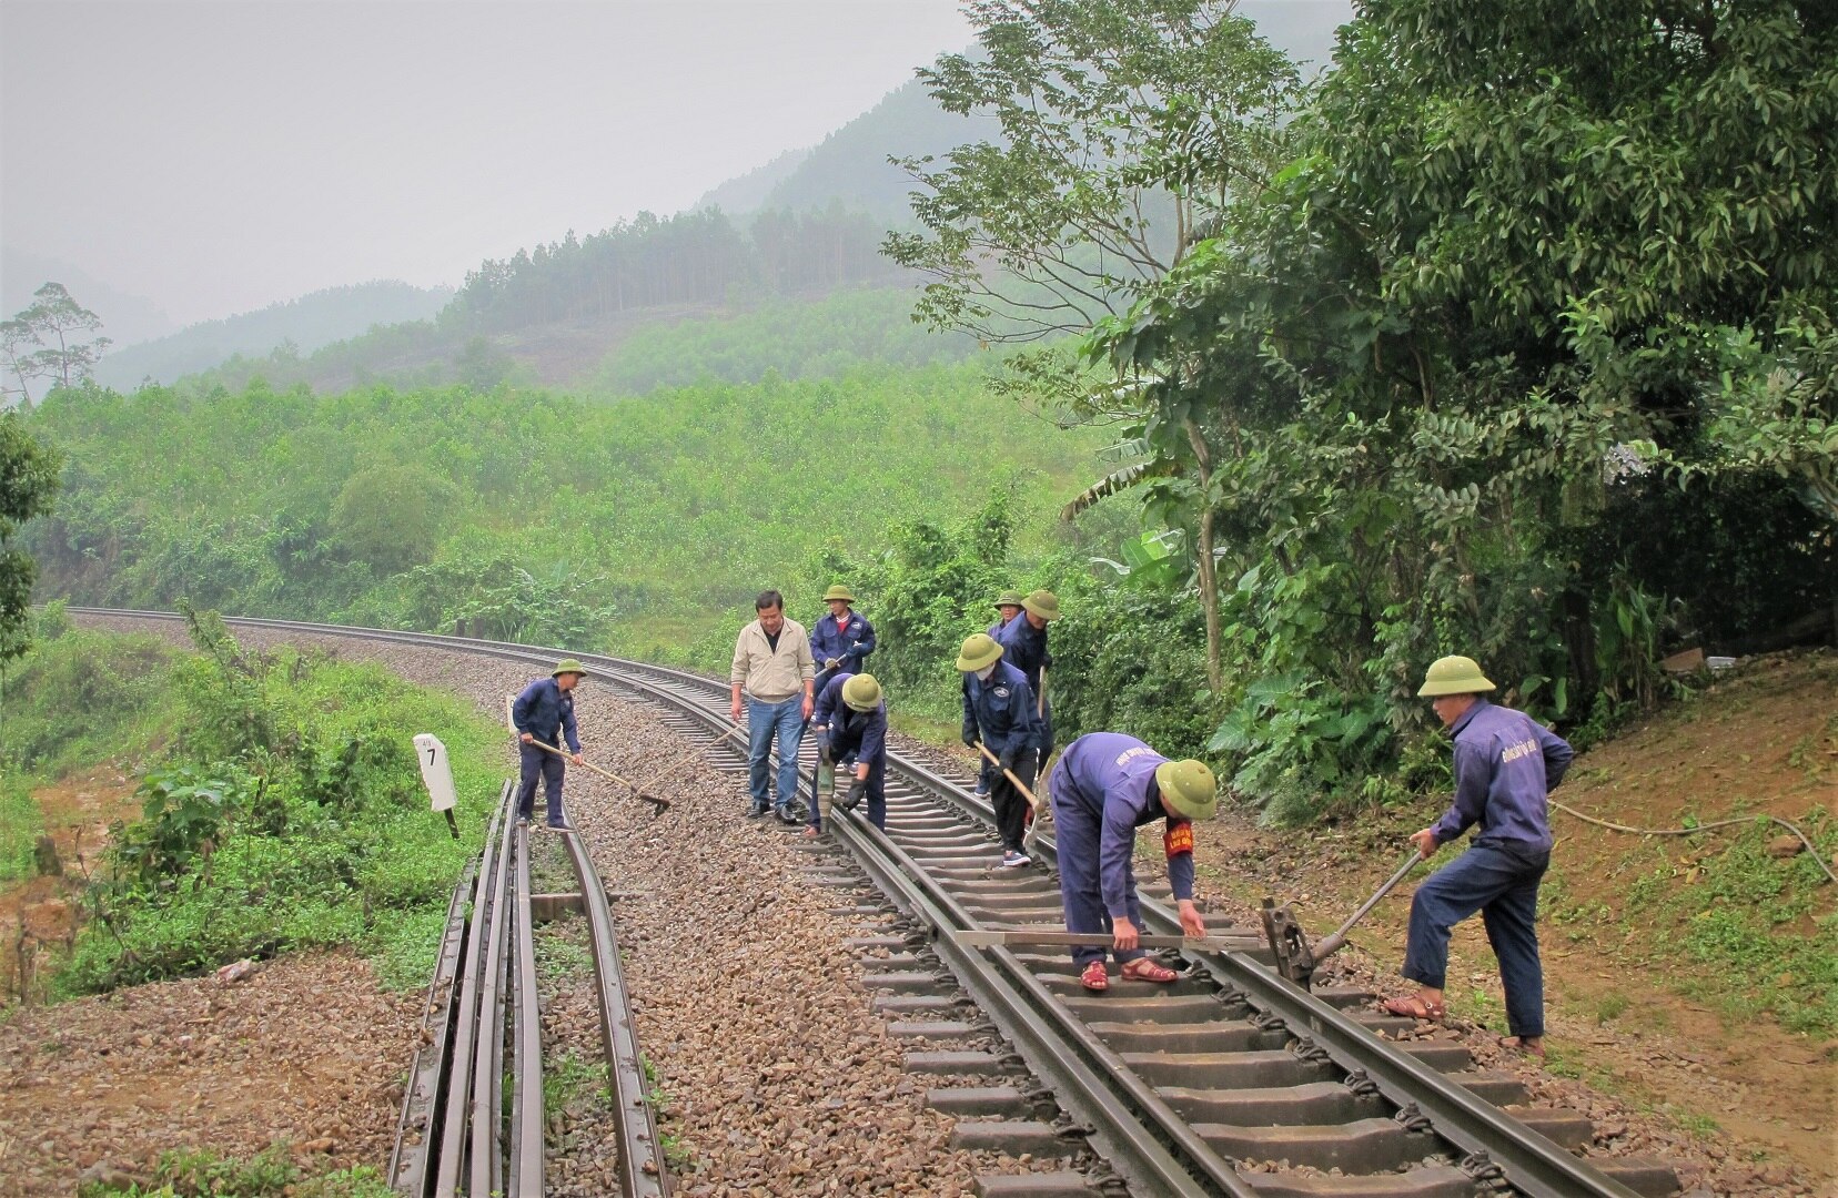
[[(193, 617), (193, 638), (200, 652), (176, 654), (154, 638), (59, 630), (53, 614), (20, 661), (7, 775), (94, 761), (142, 775), (142, 814), (110, 832), (57, 987), (322, 944), (357, 946), (386, 981), (419, 985), (496, 794), (496, 726), (379, 667), (244, 652), (211, 614)], [(448, 746), (461, 842), (426, 810), (417, 731)]]

